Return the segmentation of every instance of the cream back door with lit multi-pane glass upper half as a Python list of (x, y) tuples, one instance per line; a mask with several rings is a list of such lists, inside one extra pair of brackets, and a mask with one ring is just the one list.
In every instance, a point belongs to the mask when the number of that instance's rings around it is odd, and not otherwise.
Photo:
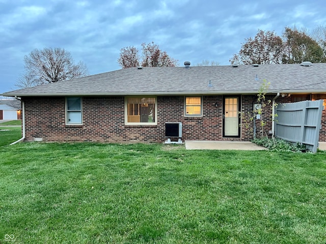
[(239, 97), (224, 99), (224, 136), (239, 136)]

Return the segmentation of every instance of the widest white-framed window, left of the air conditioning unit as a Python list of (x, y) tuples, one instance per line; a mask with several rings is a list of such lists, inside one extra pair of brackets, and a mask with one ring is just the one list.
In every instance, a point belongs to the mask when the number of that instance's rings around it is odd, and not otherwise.
[(127, 97), (125, 99), (125, 124), (156, 125), (156, 98)]

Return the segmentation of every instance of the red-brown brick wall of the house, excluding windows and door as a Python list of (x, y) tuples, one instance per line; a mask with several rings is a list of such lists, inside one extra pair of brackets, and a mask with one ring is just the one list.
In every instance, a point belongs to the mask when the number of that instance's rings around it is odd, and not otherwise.
[[(274, 96), (273, 96), (274, 97)], [(268, 98), (268, 99), (272, 99)], [(124, 125), (124, 97), (84, 97), (83, 125), (65, 125), (65, 98), (23, 98), (25, 102), (25, 138), (33, 141), (164, 142), (165, 123), (182, 123), (182, 140), (251, 140), (249, 115), (256, 96), (242, 96), (241, 138), (223, 138), (222, 96), (203, 96), (203, 116), (184, 117), (183, 96), (157, 97), (157, 126)], [(288, 102), (279, 98), (277, 102)], [(218, 107), (215, 107), (218, 103)], [(271, 113), (271, 111), (270, 111)], [(252, 115), (251, 115), (252, 116)], [(265, 118), (270, 118), (266, 115)], [(266, 119), (267, 120), (267, 119)], [(326, 141), (326, 114), (323, 112), (322, 138)], [(257, 121), (257, 131), (260, 131)], [(271, 121), (264, 127), (268, 135)]]

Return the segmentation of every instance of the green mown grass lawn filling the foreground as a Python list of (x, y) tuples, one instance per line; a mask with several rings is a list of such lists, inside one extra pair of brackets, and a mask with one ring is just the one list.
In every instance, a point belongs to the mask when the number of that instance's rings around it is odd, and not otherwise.
[(0, 243), (326, 242), (324, 151), (33, 142), (0, 155)]

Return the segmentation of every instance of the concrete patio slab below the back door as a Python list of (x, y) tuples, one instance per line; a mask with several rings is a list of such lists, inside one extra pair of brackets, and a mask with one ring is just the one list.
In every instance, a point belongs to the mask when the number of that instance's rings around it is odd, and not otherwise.
[(187, 150), (267, 150), (247, 141), (184, 141)]

